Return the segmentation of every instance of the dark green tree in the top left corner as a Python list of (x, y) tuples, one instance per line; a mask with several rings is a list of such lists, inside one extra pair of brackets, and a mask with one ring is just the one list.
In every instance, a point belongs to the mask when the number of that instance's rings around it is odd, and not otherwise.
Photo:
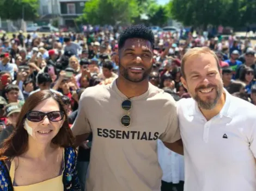
[(8, 20), (23, 18), (31, 21), (38, 16), (38, 0), (1, 0), (0, 17)]

